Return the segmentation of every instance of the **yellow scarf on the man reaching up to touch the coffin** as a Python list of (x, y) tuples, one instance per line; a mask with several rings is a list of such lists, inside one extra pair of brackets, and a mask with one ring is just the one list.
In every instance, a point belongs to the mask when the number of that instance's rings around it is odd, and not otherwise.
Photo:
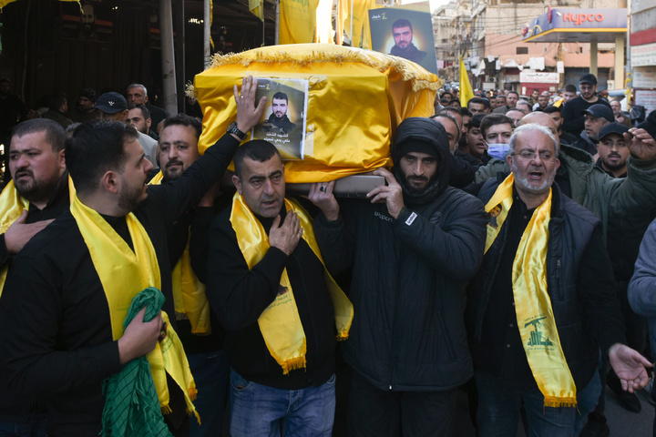
[[(87, 244), (94, 268), (105, 290), (112, 337), (118, 340), (123, 335), (123, 320), (128, 315), (132, 299), (141, 290), (149, 287), (161, 288), (155, 248), (146, 229), (132, 213), (126, 216), (126, 222), (134, 251), (107, 220), (94, 209), (84, 205), (77, 196), (71, 202), (71, 214)], [(163, 413), (170, 412), (166, 377), (169, 373), (184, 392), (188, 412), (195, 412), (191, 401), (196, 397), (196, 384), (189, 370), (187, 356), (178, 334), (170, 326), (169, 316), (164, 311), (162, 319), (167, 323), (167, 336), (146, 356), (158, 392), (159, 405)]]

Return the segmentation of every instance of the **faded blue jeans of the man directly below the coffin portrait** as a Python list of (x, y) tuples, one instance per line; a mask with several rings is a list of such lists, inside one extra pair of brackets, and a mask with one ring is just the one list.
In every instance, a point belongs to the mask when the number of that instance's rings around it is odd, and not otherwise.
[(334, 375), (319, 387), (281, 390), (231, 371), (232, 437), (330, 437), (334, 410)]

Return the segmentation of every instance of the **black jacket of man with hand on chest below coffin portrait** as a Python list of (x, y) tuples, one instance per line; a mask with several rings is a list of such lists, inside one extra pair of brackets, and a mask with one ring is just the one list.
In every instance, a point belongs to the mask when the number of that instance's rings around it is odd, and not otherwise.
[[(226, 330), (225, 350), (231, 367), (249, 381), (284, 390), (318, 386), (335, 370), (333, 301), (323, 277), (323, 265), (301, 239), (289, 257), (276, 248), (249, 269), (224, 209), (210, 228), (205, 293), (212, 311)], [(285, 218), (281, 210), (281, 223)], [(273, 219), (261, 219), (268, 233)], [(280, 290), (282, 270), (292, 285), (294, 300), (307, 340), (307, 368), (282, 374), (264, 343), (258, 318)]]

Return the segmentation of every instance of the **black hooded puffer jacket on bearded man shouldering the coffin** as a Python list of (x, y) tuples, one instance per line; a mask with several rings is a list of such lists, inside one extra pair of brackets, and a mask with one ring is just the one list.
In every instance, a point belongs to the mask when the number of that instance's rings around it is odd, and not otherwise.
[(447, 187), (444, 129), (424, 120), (398, 127), (393, 156), (434, 147), (438, 178), (425, 190), (432, 196), (405, 193), (407, 208), (397, 219), (384, 204), (347, 200), (340, 219), (314, 221), (328, 269), (353, 266), (355, 317), (345, 359), (385, 391), (448, 390), (472, 375), (465, 287), (483, 258), (487, 215), (480, 200)]

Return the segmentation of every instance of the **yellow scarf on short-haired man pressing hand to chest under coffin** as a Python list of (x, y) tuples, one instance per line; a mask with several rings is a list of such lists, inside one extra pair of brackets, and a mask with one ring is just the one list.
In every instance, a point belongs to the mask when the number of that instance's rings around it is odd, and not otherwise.
[[(323, 258), (314, 239), (312, 219), (305, 210), (296, 203), (285, 198), (285, 208), (298, 214), (303, 229), (302, 239), (313, 250), (314, 255), (322, 262)], [(239, 193), (232, 198), (231, 224), (237, 235), (237, 241), (249, 269), (256, 265), (269, 249), (269, 237), (260, 220), (256, 219), (251, 209), (243, 202)], [(348, 331), (353, 321), (354, 308), (350, 300), (335, 283), (328, 271), (323, 269), (326, 287), (333, 300), (337, 339), (348, 338)], [(275, 300), (262, 311), (258, 324), (267, 349), (272, 357), (287, 374), (294, 369), (305, 367), (306, 340), (302, 329), (301, 317), (296, 308), (292, 285), (287, 276), (287, 269), (282, 270), (281, 290)]]

